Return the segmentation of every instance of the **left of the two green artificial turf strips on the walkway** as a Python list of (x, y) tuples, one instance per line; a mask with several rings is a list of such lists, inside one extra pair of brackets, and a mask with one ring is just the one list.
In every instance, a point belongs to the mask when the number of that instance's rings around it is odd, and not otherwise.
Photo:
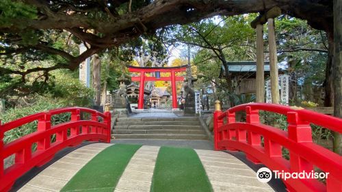
[(129, 160), (141, 145), (116, 144), (90, 160), (62, 191), (114, 191)]

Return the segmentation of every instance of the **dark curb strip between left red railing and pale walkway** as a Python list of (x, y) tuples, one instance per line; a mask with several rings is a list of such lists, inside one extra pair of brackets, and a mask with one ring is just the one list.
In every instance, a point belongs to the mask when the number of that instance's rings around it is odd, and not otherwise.
[(94, 143), (103, 143), (103, 142), (86, 141), (86, 142), (83, 142), (80, 145), (77, 145), (75, 147), (66, 147), (66, 148), (62, 149), (60, 152), (57, 152), (55, 154), (55, 156), (53, 157), (52, 160), (50, 160), (48, 163), (46, 163), (42, 167), (34, 167), (31, 170), (27, 171), (27, 173), (25, 173), (23, 176), (18, 178), (16, 180), (16, 182), (14, 182), (12, 189), (10, 189), (10, 192), (18, 191), (19, 189), (21, 189), (21, 187), (23, 187), (25, 184), (27, 184), (27, 182), (29, 182), (32, 178), (34, 178), (35, 176), (38, 176), (38, 174), (40, 172), (42, 172), (44, 169), (46, 169), (47, 167), (49, 167), (50, 165), (55, 163), (57, 160), (60, 160), (61, 158), (63, 158), (67, 154), (70, 154), (71, 152), (75, 151), (76, 149), (79, 149), (81, 147), (84, 147), (86, 145), (91, 145)]

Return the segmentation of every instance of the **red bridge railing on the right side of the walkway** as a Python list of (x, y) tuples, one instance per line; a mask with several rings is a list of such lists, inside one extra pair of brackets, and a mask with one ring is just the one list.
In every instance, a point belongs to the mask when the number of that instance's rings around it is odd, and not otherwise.
[[(287, 116), (287, 131), (265, 125), (259, 110)], [(246, 122), (235, 121), (236, 112), (246, 112)], [(287, 173), (310, 173), (314, 167), (329, 173), (326, 184), (317, 179), (283, 180), (288, 191), (342, 191), (342, 156), (313, 143), (310, 123), (342, 133), (342, 119), (311, 110), (275, 104), (244, 104), (214, 112), (215, 150), (241, 151), (253, 163)], [(262, 139), (263, 138), (263, 139)], [(282, 157), (289, 150), (289, 160)]]

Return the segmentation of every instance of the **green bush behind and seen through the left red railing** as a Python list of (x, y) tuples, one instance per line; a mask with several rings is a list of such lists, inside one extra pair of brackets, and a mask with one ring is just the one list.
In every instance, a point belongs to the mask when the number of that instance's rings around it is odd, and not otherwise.
[[(25, 108), (10, 108), (6, 110), (3, 113), (0, 113), (0, 119), (1, 123), (7, 123), (10, 121), (13, 121), (15, 119), (25, 117), (27, 115), (35, 114), (37, 112), (42, 112), (45, 110), (51, 110), (54, 108), (61, 108), (63, 107), (62, 104), (57, 104), (53, 101), (40, 99), (35, 104), (32, 104), (31, 106), (25, 107)], [(70, 114), (64, 113), (61, 115), (54, 115), (51, 118), (52, 125), (63, 123), (70, 120)], [(25, 125), (22, 125), (19, 128), (15, 128), (13, 130), (10, 130), (8, 132), (5, 132), (3, 141), (4, 143), (10, 143), (11, 141), (14, 141), (22, 136), (25, 136), (27, 134), (30, 134), (32, 132), (35, 132), (37, 130), (37, 121), (33, 121), (31, 123), (27, 123)]]

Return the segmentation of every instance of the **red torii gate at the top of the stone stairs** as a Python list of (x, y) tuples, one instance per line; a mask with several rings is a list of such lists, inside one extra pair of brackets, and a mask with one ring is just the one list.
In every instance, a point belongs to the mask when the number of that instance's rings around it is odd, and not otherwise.
[[(183, 81), (184, 77), (176, 77), (176, 72), (183, 72), (187, 70), (187, 65), (180, 67), (134, 67), (129, 66), (129, 72), (140, 73), (140, 77), (132, 77), (133, 82), (140, 82), (138, 109), (144, 109), (144, 86), (145, 81), (170, 81), (172, 86), (172, 108), (177, 106), (176, 81)], [(155, 73), (155, 77), (145, 77), (145, 73)], [(160, 73), (171, 73), (171, 77), (161, 77)]]

